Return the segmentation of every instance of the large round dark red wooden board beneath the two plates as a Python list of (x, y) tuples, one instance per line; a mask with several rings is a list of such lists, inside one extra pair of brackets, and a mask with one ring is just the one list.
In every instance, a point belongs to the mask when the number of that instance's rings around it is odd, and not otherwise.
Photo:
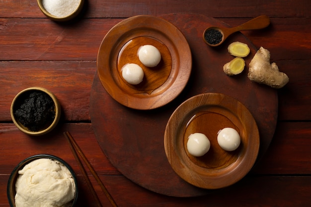
[[(198, 14), (176, 13), (161, 16), (184, 34), (192, 54), (190, 79), (172, 102), (153, 110), (136, 110), (115, 101), (94, 76), (90, 97), (90, 116), (97, 141), (111, 163), (128, 179), (151, 191), (176, 197), (210, 193), (180, 178), (171, 168), (164, 151), (164, 131), (174, 110), (185, 100), (202, 93), (222, 93), (241, 102), (254, 117), (260, 136), (258, 158), (268, 148), (276, 127), (277, 90), (251, 82), (248, 67), (236, 76), (227, 76), (224, 64), (233, 57), (227, 47), (234, 41), (248, 44), (251, 52), (246, 66), (257, 49), (241, 33), (235, 33), (219, 47), (207, 46), (202, 34), (210, 26), (227, 26), (222, 21)], [(163, 31), (165, 28), (163, 28)]]

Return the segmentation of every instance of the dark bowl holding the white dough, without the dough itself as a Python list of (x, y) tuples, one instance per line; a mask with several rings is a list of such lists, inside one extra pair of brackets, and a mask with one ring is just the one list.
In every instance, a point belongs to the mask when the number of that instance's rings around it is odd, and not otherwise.
[(77, 176), (74, 172), (74, 170), (71, 168), (71, 166), (66, 163), (63, 159), (56, 157), (54, 155), (49, 155), (49, 154), (37, 154), (37, 155), (33, 155), (30, 156), (26, 159), (24, 159), (23, 161), (21, 161), (12, 171), (11, 175), (8, 178), (8, 182), (7, 182), (7, 199), (8, 199), (8, 203), (10, 205), (10, 207), (15, 207), (15, 183), (16, 183), (16, 179), (18, 177), (18, 171), (23, 169), (23, 167), (30, 163), (31, 161), (34, 161), (36, 159), (40, 159), (40, 158), (49, 158), (49, 159), (53, 159), (53, 160), (57, 160), (60, 163), (64, 164), (69, 171), (71, 172), (74, 181), (75, 181), (75, 186), (76, 186), (76, 194), (75, 194), (75, 198), (73, 200), (72, 206), (71, 207), (75, 207), (76, 203), (77, 203), (77, 199), (78, 199), (78, 181), (77, 181)]

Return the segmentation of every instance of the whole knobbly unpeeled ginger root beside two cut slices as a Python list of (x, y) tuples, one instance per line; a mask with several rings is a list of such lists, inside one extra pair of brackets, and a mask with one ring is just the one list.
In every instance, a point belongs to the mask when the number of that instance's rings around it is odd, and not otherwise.
[(287, 74), (280, 72), (275, 63), (270, 64), (270, 52), (263, 47), (260, 47), (250, 61), (247, 76), (251, 81), (263, 83), (272, 88), (282, 88), (289, 81)]

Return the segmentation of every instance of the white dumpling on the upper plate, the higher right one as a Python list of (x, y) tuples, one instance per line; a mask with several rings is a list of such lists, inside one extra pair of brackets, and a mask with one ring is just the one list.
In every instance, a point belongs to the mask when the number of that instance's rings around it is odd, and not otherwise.
[(161, 61), (159, 50), (153, 45), (144, 45), (138, 50), (138, 58), (147, 67), (156, 67)]

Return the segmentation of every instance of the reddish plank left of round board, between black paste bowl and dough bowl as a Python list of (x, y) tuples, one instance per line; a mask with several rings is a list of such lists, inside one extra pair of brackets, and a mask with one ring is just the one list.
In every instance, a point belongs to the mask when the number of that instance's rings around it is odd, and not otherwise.
[(27, 136), (20, 132), (14, 124), (0, 124), (1, 174), (10, 174), (13, 168), (23, 159), (34, 154), (43, 153), (64, 159), (74, 170), (77, 170), (77, 174), (81, 174), (69, 145), (62, 134), (65, 131), (72, 132), (72, 135), (75, 136), (77, 143), (81, 146), (85, 156), (89, 157), (90, 163), (98, 174), (119, 174), (107, 160), (106, 156), (103, 155), (100, 147), (97, 145), (92, 126), (87, 123), (59, 124), (51, 134), (43, 137)]

